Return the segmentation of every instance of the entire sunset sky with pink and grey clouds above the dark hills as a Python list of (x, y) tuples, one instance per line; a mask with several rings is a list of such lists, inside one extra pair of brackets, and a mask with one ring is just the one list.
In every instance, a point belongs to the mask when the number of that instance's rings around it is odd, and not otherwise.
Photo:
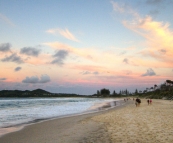
[(173, 76), (172, 0), (0, 0), (0, 90), (90, 95)]

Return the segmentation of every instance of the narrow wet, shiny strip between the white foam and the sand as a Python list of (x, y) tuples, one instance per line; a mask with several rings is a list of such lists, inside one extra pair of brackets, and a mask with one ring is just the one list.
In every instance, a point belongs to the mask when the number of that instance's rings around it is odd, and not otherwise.
[[(118, 103), (118, 104), (117, 104)], [(12, 126), (7, 126), (7, 127), (2, 127), (0, 128), (0, 138), (8, 135), (13, 132), (18, 132), (27, 126), (34, 125), (37, 123), (42, 123), (46, 121), (52, 121), (52, 120), (57, 120), (57, 119), (63, 119), (63, 118), (71, 118), (71, 117), (78, 117), (82, 115), (87, 115), (87, 114), (94, 114), (94, 113), (99, 113), (102, 111), (110, 110), (112, 108), (116, 108), (117, 106), (120, 106), (122, 103), (124, 103), (121, 99), (111, 101), (111, 102), (105, 102), (103, 104), (98, 104), (99, 106), (95, 105), (93, 106), (94, 108), (89, 109), (88, 111), (84, 111), (81, 113), (75, 113), (75, 114), (68, 114), (68, 115), (62, 115), (62, 116), (57, 116), (57, 117), (52, 117), (52, 118), (44, 118), (44, 119), (35, 119), (33, 121), (25, 122), (25, 123), (20, 123)]]

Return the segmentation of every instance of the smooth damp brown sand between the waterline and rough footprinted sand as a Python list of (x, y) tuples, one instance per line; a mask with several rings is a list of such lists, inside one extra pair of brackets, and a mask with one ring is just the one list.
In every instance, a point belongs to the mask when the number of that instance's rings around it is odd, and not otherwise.
[[(124, 101), (121, 102), (124, 103)], [(94, 121), (85, 123), (85, 121), (90, 120), (94, 116), (101, 115), (109, 111), (118, 110), (128, 104), (130, 104), (130, 102), (100, 112), (33, 123), (25, 126), (19, 131), (11, 132), (1, 136), (0, 142), (77, 143), (83, 140), (83, 138), (87, 138), (87, 136), (89, 136), (91, 132), (96, 132), (100, 129), (102, 130), (102, 134), (105, 134), (104, 124), (100, 124)], [(104, 137), (105, 140), (108, 140), (107, 135), (105, 135)]]

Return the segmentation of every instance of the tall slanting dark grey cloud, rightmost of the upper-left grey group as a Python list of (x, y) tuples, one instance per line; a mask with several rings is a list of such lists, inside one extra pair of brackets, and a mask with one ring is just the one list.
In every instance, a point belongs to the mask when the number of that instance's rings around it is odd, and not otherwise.
[(61, 66), (64, 64), (64, 60), (66, 59), (67, 55), (68, 55), (68, 51), (59, 50), (55, 55), (53, 55), (54, 60), (51, 63), (58, 64)]

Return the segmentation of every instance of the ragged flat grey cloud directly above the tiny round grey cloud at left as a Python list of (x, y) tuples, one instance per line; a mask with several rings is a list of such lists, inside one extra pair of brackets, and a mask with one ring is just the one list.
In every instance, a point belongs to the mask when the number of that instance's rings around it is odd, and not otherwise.
[(18, 64), (21, 64), (23, 63), (24, 61), (21, 59), (20, 56), (17, 56), (15, 53), (12, 54), (11, 56), (6, 56), (5, 58), (3, 58), (1, 60), (2, 62), (15, 62), (15, 63), (18, 63)]

